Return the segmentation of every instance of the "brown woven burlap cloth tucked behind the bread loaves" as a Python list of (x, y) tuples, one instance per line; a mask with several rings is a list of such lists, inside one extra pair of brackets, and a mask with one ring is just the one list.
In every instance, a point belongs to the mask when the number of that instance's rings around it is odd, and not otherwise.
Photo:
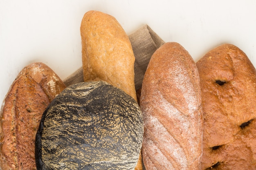
[[(146, 24), (128, 35), (135, 55), (134, 72), (136, 91), (141, 88), (148, 62), (153, 53), (165, 42)], [(63, 80), (66, 86), (83, 82), (83, 69), (79, 68)]]

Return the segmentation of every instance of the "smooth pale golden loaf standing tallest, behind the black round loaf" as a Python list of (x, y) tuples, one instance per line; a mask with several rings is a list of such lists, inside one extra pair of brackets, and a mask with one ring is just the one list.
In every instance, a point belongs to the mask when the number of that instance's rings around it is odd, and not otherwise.
[[(80, 31), (84, 81), (106, 81), (137, 101), (135, 56), (121, 24), (106, 13), (88, 11), (83, 16)], [(142, 170), (141, 155), (135, 170)]]

